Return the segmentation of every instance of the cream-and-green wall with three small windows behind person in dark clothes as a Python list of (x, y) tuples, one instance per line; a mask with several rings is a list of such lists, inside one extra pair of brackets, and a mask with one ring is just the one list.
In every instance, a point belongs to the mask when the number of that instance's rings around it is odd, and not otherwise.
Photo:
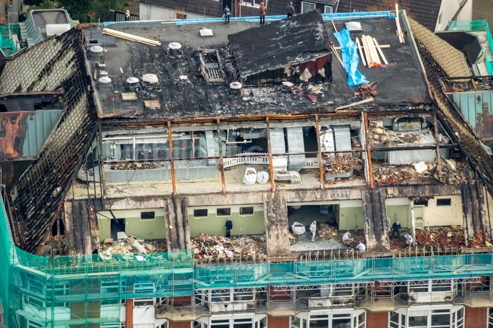
[[(253, 215), (240, 215), (240, 207), (253, 206)], [(194, 209), (208, 210), (207, 217), (195, 218)], [(265, 232), (264, 211), (262, 205), (234, 205), (234, 206), (202, 206), (188, 208), (188, 225), (190, 236), (201, 232), (214, 235), (224, 235), (224, 224), (228, 216), (217, 216), (217, 208), (231, 208), (231, 221), (233, 222), (232, 235), (262, 234)]]

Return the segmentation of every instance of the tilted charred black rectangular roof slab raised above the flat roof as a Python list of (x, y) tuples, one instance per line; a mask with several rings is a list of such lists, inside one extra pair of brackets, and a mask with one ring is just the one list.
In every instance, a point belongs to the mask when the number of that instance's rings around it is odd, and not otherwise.
[(317, 10), (229, 34), (228, 39), (242, 77), (329, 52), (329, 38)]

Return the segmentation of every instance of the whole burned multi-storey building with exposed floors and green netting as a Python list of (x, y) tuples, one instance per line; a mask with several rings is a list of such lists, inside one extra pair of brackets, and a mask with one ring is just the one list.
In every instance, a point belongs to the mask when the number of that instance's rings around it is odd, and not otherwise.
[(126, 22), (9, 59), (7, 113), (46, 93), (61, 114), (4, 199), (7, 325), (492, 321), (493, 162), (448, 94), (479, 79), (395, 18)]

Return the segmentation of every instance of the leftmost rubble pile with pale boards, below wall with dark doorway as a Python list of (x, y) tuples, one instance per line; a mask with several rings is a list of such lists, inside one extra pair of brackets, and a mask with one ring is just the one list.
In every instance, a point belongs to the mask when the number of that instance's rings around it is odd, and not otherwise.
[(106, 238), (100, 243), (99, 253), (101, 256), (111, 254), (151, 254), (164, 253), (168, 250), (165, 240), (144, 241), (134, 236), (124, 236), (118, 240)]

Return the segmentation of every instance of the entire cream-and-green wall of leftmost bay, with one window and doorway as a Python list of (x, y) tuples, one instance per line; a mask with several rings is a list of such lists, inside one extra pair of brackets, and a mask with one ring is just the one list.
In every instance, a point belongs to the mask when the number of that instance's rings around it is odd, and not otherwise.
[[(154, 211), (154, 220), (141, 220), (141, 212)], [(125, 219), (125, 233), (142, 239), (166, 239), (166, 223), (163, 208), (114, 210), (117, 219)], [(98, 213), (100, 239), (110, 238), (111, 220), (109, 211)]]

